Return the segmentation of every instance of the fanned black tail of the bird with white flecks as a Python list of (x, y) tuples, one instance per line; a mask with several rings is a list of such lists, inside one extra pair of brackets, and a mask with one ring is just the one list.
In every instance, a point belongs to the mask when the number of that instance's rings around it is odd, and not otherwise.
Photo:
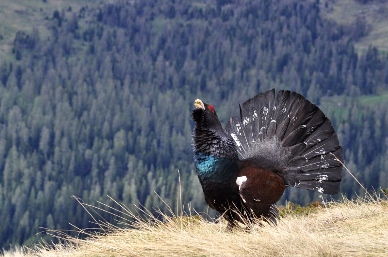
[(282, 170), (279, 176), (284, 177), (286, 184), (326, 194), (338, 193), (342, 166), (328, 153), (333, 152), (343, 162), (343, 150), (333, 125), (318, 106), (290, 91), (279, 91), (275, 99), (273, 89), (245, 101), (240, 115), (241, 122), (233, 117), (225, 130), (235, 140), (242, 158), (257, 158), (265, 163), (265, 156), (270, 155), (260, 155), (260, 151), (270, 149), (268, 140), (276, 136), (281, 148), (289, 148), (291, 154), (271, 155), (285, 159), (267, 163), (284, 164), (274, 168)]

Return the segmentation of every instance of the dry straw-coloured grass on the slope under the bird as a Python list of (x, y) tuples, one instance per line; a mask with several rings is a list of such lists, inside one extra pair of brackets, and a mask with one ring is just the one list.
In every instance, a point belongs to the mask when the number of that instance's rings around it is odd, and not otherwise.
[(65, 237), (62, 244), (37, 245), (15, 257), (387, 256), (388, 201), (364, 197), (326, 206), (308, 215), (286, 215), (277, 227), (255, 225), (250, 232), (245, 226), (227, 232), (224, 221), (209, 222), (198, 216), (164, 215), (163, 223), (151, 216), (130, 222), (133, 229), (101, 224), (110, 232), (85, 240)]

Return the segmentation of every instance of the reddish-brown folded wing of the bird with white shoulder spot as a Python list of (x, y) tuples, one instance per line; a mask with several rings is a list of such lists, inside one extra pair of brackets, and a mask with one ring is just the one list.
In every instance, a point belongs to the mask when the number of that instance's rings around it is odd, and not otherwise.
[(264, 217), (276, 223), (278, 211), (276, 202), (282, 197), (285, 185), (283, 180), (269, 169), (245, 167), (236, 183), (240, 197), (248, 209), (257, 217)]

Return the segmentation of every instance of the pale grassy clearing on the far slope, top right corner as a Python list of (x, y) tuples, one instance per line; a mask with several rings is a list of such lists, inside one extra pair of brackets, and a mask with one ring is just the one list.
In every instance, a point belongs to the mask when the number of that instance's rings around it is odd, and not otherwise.
[[(327, 4), (326, 4), (327, 3)], [(378, 46), (382, 51), (388, 51), (388, 7), (386, 0), (372, 0), (365, 4), (356, 0), (321, 1), (324, 17), (348, 25), (355, 23), (359, 17), (366, 21), (370, 33), (356, 42), (356, 48), (363, 52), (369, 45)]]

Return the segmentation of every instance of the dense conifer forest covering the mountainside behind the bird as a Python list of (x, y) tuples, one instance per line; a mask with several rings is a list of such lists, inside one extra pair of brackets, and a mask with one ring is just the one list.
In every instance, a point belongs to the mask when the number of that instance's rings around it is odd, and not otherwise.
[[(317, 2), (118, 1), (54, 12), (48, 26), (49, 36), (17, 33), (15, 60), (0, 64), (0, 247), (37, 242), (39, 227), (93, 227), (72, 195), (165, 209), (155, 191), (174, 206), (178, 169), (182, 200), (206, 212), (191, 149), (197, 98), (225, 124), (260, 91), (298, 91), (322, 102), (364, 186), (388, 184), (387, 105), (360, 100), (387, 90), (387, 55), (358, 56), (354, 31)], [(345, 173), (342, 193), (358, 188)]]

